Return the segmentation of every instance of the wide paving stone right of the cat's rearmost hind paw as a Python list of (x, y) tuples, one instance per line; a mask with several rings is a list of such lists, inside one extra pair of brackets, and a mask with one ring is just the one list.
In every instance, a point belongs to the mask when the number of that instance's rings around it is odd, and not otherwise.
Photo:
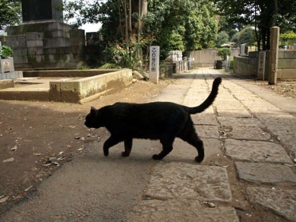
[(264, 141), (240, 141), (227, 139), (225, 154), (235, 160), (293, 164), (284, 148)]

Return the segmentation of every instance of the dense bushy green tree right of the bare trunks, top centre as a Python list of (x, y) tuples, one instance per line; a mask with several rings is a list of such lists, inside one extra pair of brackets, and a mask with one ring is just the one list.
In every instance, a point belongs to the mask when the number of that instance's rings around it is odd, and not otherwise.
[(144, 22), (143, 33), (156, 37), (161, 59), (177, 49), (168, 45), (173, 33), (182, 37), (185, 51), (211, 47), (218, 30), (215, 7), (206, 0), (150, 0)]

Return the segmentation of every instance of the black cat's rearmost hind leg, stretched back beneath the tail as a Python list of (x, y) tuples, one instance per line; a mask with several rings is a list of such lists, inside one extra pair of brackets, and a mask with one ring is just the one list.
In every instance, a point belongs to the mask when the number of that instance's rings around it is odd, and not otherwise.
[(192, 145), (197, 149), (198, 156), (195, 157), (195, 161), (200, 163), (201, 161), (203, 161), (205, 157), (203, 142), (197, 136), (193, 126), (190, 126), (188, 128), (189, 129), (186, 130), (187, 133), (179, 136), (179, 138), (181, 138), (182, 140), (184, 140), (185, 142), (187, 142), (188, 144)]

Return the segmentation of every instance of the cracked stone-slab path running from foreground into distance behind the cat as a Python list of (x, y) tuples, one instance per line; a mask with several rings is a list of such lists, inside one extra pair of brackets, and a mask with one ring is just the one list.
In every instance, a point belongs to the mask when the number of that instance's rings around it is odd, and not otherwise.
[[(186, 106), (203, 102), (213, 79), (221, 75), (212, 69), (194, 73), (183, 101)], [(192, 119), (199, 136), (206, 141), (205, 158), (223, 156), (223, 163), (234, 162), (234, 172), (228, 170), (228, 165), (220, 166), (219, 161), (209, 166), (164, 158), (153, 167), (142, 201), (128, 213), (129, 221), (185, 222), (198, 218), (238, 222), (242, 214), (250, 217), (247, 221), (254, 221), (251, 212), (234, 207), (233, 199), (237, 197), (232, 196), (228, 173), (232, 178), (238, 175), (232, 183), (244, 187), (248, 204), (269, 209), (283, 220), (296, 221), (296, 171), (288, 155), (296, 152), (295, 116), (227, 78), (222, 80), (213, 106), (192, 115)], [(213, 144), (213, 140), (218, 143)], [(219, 149), (207, 152), (211, 145)], [(174, 146), (186, 145), (176, 140)], [(276, 186), (283, 183), (285, 189)]]

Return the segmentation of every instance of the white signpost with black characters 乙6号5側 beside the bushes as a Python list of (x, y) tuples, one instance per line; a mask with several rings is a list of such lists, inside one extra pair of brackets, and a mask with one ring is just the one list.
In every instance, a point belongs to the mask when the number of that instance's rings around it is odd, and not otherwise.
[(159, 78), (159, 46), (150, 46), (149, 79), (157, 84)]

